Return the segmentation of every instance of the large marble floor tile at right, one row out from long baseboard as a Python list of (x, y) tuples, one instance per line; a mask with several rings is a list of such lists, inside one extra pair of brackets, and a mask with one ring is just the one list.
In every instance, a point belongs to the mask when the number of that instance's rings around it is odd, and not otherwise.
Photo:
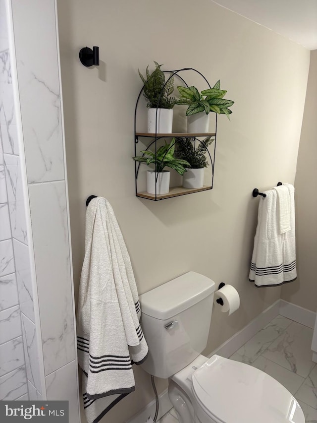
[(315, 366), (312, 361), (312, 339), (313, 329), (293, 322), (267, 348), (263, 357), (302, 377), (307, 377)]

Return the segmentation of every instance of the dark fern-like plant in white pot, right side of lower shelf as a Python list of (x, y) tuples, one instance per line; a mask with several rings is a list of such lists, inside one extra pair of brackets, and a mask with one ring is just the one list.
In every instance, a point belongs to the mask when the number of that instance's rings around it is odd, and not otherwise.
[(199, 142), (195, 148), (193, 138), (184, 138), (177, 143), (175, 157), (187, 161), (190, 169), (183, 174), (183, 186), (185, 188), (202, 188), (204, 185), (204, 171), (209, 166), (206, 153), (214, 138), (208, 136)]

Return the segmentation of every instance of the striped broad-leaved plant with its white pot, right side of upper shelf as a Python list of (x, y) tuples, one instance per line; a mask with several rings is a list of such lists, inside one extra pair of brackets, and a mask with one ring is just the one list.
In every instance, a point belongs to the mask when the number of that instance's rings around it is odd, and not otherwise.
[(208, 132), (210, 112), (227, 115), (230, 120), (229, 115), (232, 111), (229, 107), (234, 101), (223, 98), (227, 91), (220, 90), (220, 80), (212, 88), (201, 93), (194, 86), (177, 87), (177, 89), (181, 98), (176, 104), (188, 106), (186, 110), (188, 133)]

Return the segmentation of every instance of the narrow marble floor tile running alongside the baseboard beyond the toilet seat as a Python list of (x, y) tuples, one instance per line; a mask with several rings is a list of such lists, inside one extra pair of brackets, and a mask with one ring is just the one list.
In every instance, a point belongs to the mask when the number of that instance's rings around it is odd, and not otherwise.
[(253, 338), (239, 348), (230, 359), (252, 364), (284, 331), (283, 327), (273, 323), (273, 321), (268, 323)]

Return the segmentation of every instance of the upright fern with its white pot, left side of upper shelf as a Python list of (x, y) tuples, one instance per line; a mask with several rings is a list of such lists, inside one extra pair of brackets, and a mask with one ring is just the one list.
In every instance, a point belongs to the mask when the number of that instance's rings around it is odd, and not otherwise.
[(148, 132), (171, 133), (173, 124), (173, 107), (177, 99), (170, 97), (174, 91), (174, 77), (165, 82), (165, 74), (160, 69), (161, 64), (155, 63), (155, 70), (150, 73), (149, 65), (146, 76), (139, 69), (139, 75), (144, 83), (143, 95), (148, 100)]

